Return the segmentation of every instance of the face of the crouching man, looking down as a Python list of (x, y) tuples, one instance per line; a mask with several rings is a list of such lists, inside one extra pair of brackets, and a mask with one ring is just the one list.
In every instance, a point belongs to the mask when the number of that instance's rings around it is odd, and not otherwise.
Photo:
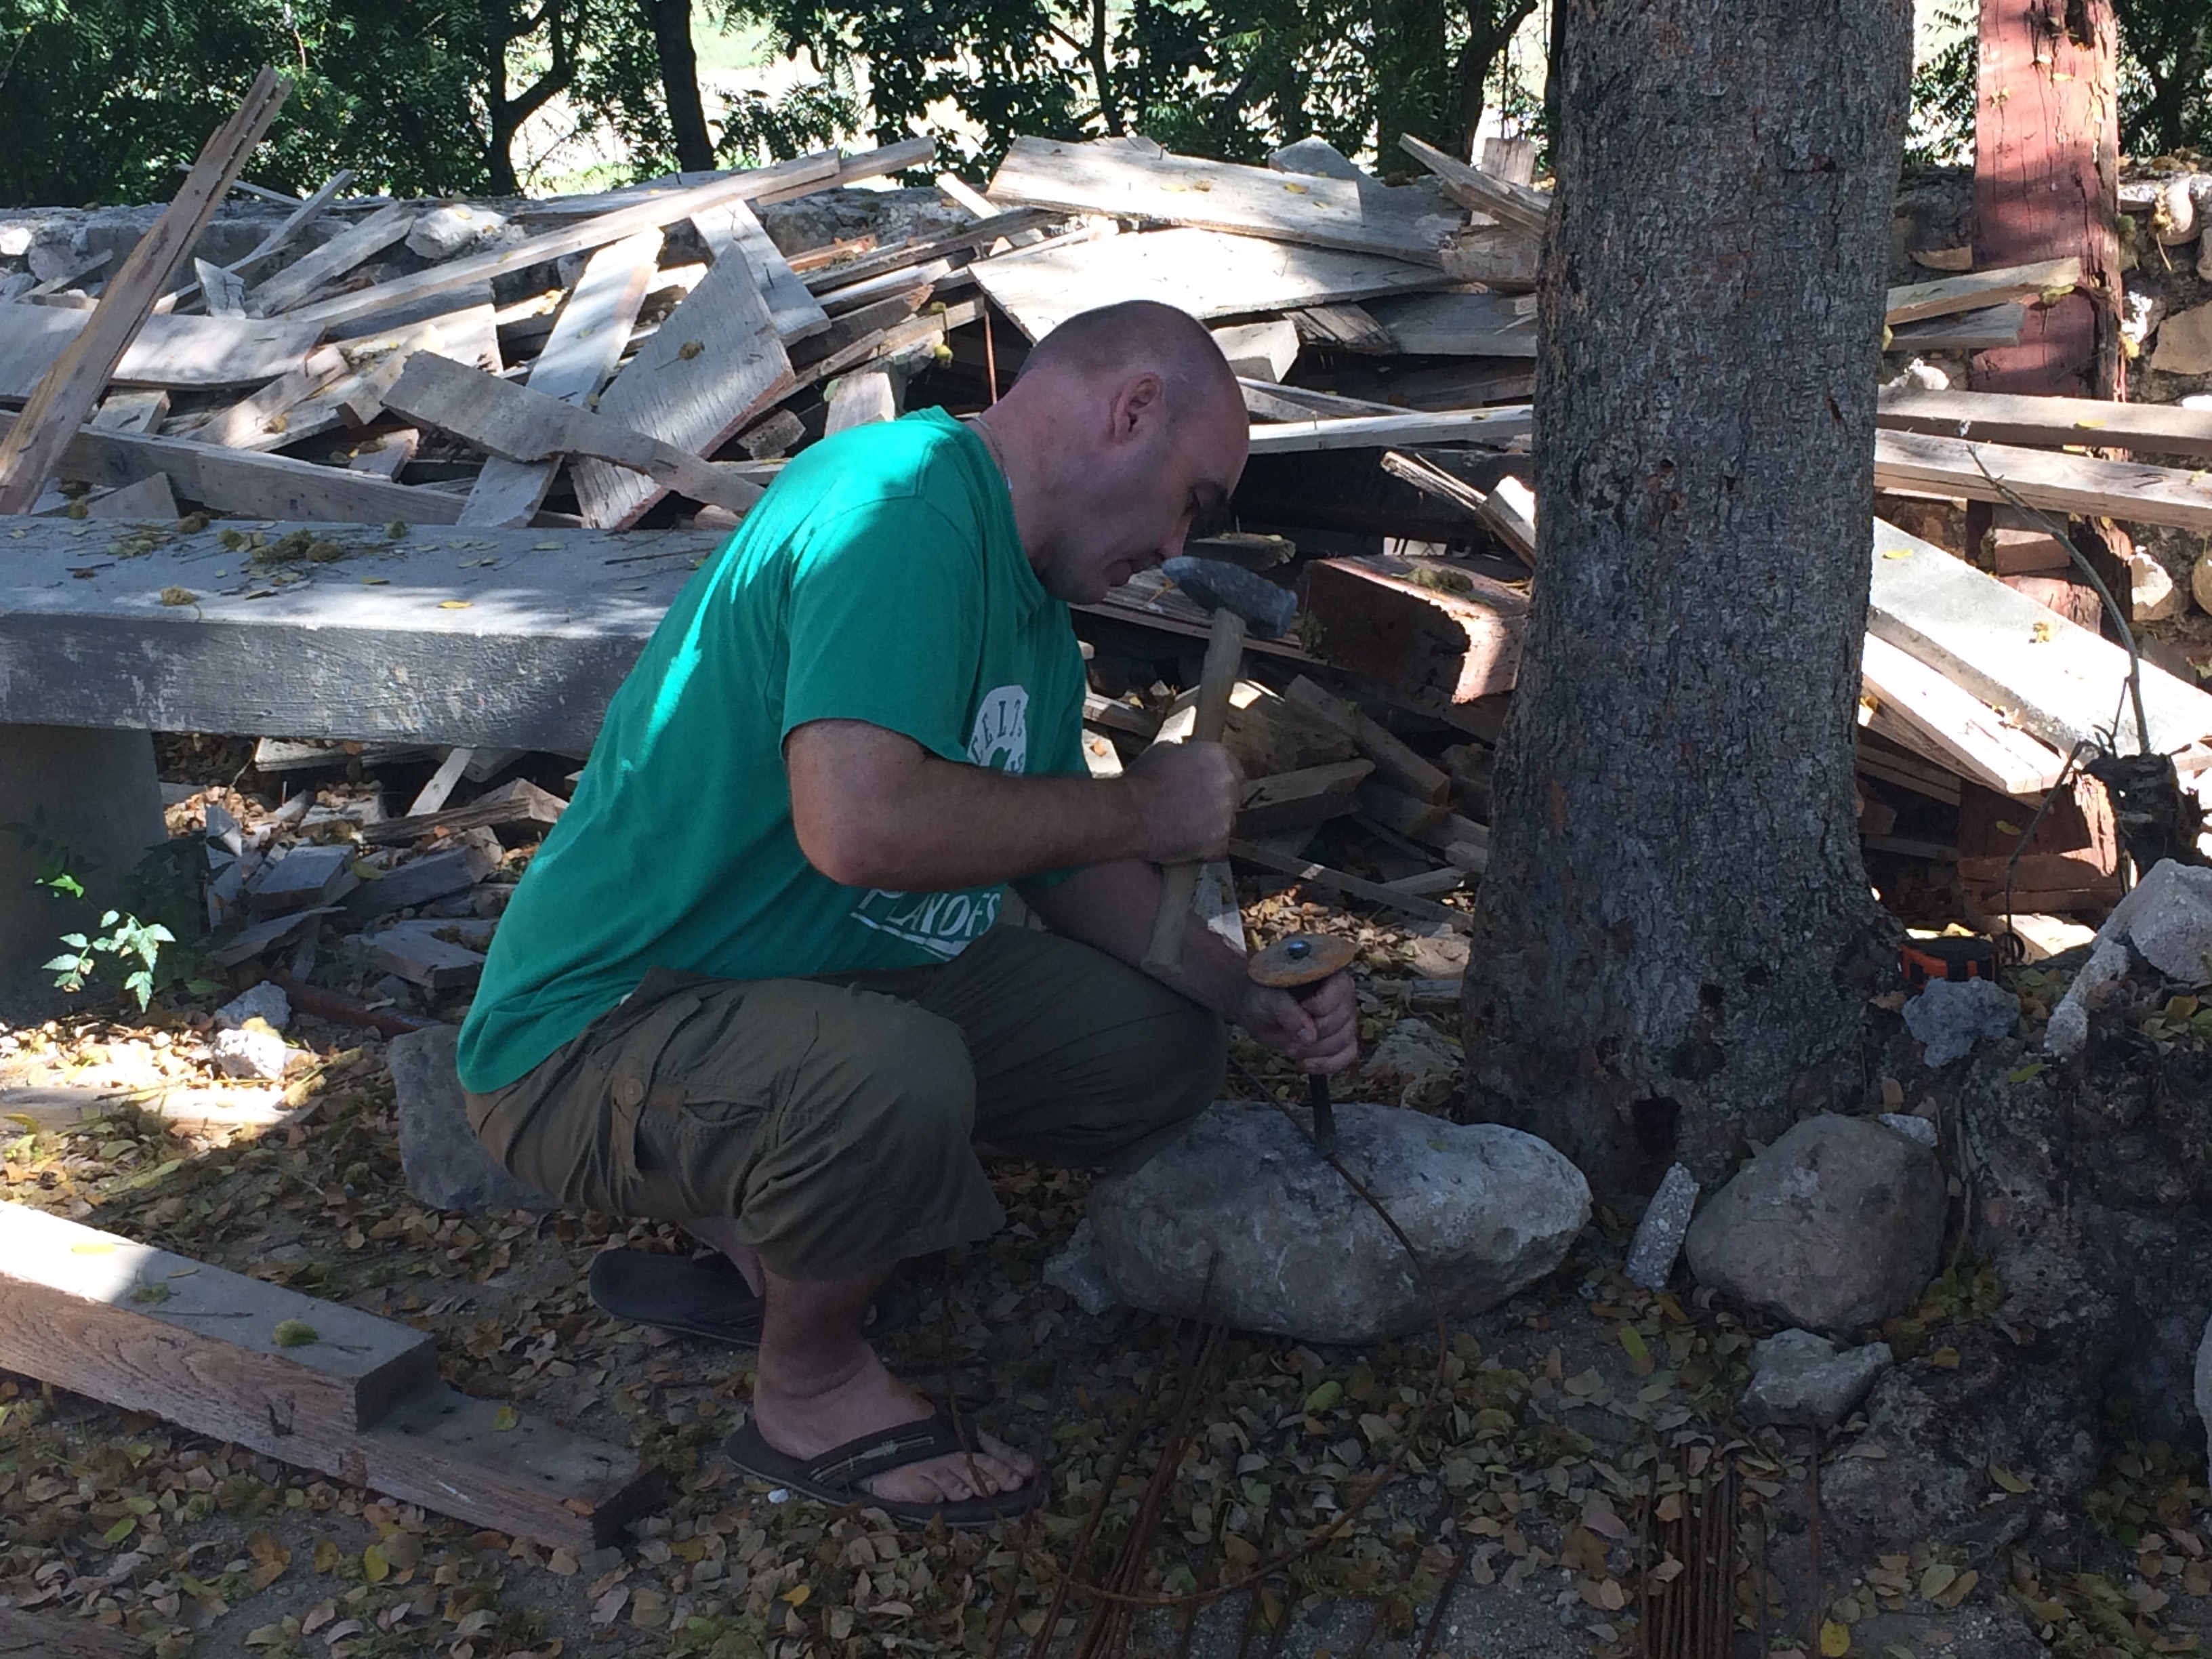
[(1245, 462), (1245, 416), (1237, 405), (1188, 411), (1168, 422), (1157, 403), (1119, 416), (1086, 511), (1044, 586), (1068, 604), (1097, 604), (1139, 571), (1155, 571), (1192, 535), (1228, 524), (1230, 493)]

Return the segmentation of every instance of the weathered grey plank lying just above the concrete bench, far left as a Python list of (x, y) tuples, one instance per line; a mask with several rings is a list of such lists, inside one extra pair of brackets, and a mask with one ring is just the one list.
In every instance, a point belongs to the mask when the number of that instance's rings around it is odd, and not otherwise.
[[(0, 411), (0, 431), (22, 416)], [(387, 484), (343, 467), (316, 467), (290, 456), (254, 456), (239, 449), (155, 438), (142, 431), (82, 429), (49, 471), (86, 484), (122, 489), (153, 473), (168, 473), (175, 491), (219, 513), (314, 522), (451, 524), (460, 518), (460, 495), (436, 489)], [(206, 728), (195, 728), (206, 730)]]

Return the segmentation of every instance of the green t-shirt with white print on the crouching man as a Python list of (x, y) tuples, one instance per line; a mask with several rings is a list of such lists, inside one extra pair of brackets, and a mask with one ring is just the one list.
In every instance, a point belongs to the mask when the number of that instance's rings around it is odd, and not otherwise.
[(799, 849), (783, 739), (856, 719), (947, 761), (1082, 774), (1082, 706), (1068, 611), (975, 434), (925, 411), (814, 445), (615, 692), (493, 938), (462, 1082), (515, 1082), (653, 967), (768, 980), (958, 956), (1004, 887), (832, 883)]

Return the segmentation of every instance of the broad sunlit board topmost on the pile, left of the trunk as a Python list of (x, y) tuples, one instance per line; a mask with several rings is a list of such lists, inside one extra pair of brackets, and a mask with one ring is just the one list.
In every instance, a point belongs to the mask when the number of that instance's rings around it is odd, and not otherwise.
[(1442, 265), (1444, 239), (1460, 228), (1460, 215), (1427, 190), (1170, 155), (1150, 139), (1018, 137), (991, 179), (991, 197), (1385, 254), (1416, 265)]

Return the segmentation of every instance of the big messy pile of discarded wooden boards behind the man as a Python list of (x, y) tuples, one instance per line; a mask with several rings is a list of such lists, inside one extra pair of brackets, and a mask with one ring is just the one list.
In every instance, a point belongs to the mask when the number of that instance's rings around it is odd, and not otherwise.
[[(104, 367), (77, 372), (93, 398), (84, 418), (40, 440), (51, 476), (31, 511), (137, 522), (111, 553), (179, 560), (201, 522), (168, 531), (150, 520), (254, 520), (246, 535), (265, 533), (274, 551), (252, 540), (232, 588), (192, 593), (226, 628), (243, 628), (237, 599), (268, 591), (290, 608), (254, 619), (332, 626), (292, 586), (312, 577), (301, 560), (316, 549), (352, 557), (358, 535), (338, 526), (394, 522), (478, 531), (482, 564), (522, 546), (491, 540), (502, 533), (549, 538), (529, 546), (562, 549), (564, 562), (635, 560), (639, 604), (657, 606), (668, 573), (699, 557), (697, 538), (666, 555), (639, 540), (635, 555), (613, 557), (586, 538), (726, 529), (810, 442), (907, 409), (971, 414), (1066, 316), (1126, 299), (1177, 305), (1214, 332), (1252, 418), (1239, 533), (1190, 551), (1261, 571), (1301, 602), (1292, 633), (1248, 648), (1230, 721), (1250, 774), (1239, 856), (1455, 927), (1464, 911), (1442, 900), (1489, 856), (1493, 754), (1537, 580), (1528, 396), (1548, 195), (1511, 168), (1526, 168), (1526, 146), (1504, 146), (1498, 170), (1418, 139), (1405, 153), (1413, 177), (1389, 184), (1318, 139), (1239, 166), (1137, 137), (1022, 137), (984, 190), (942, 175), (927, 223), (891, 230), (887, 212), (860, 234), (783, 217), (781, 204), (927, 166), (927, 139), (498, 206), (345, 199), (334, 179), (243, 259), (173, 261), (153, 283), (139, 261), (128, 294), (117, 292), (128, 268), (108, 285), (93, 261), (33, 283), (0, 263), (0, 405), (31, 398), (22, 420), (35, 418), (35, 394), (75, 343), (108, 341)], [(2017, 341), (2028, 307), (2079, 279), (2066, 259), (1980, 272), (1947, 261), (1931, 281), (1889, 290), (1889, 345), (1942, 354)], [(137, 314), (104, 319), (111, 301)], [(1940, 380), (1922, 374), (1880, 394), (1874, 471), (1891, 507), (1973, 500), (2212, 529), (2201, 471), (2212, 414)], [(0, 442), (20, 451), (13, 425), (0, 407)], [(2112, 721), (2126, 653), (2022, 591), (2048, 580), (2053, 555), (2066, 560), (2053, 538), (2033, 538), (2048, 542), (2042, 564), (2006, 544), (1993, 568), (1887, 522), (1869, 549), (1865, 845), (1958, 891), (1966, 918), (1984, 916), (1995, 891), (1986, 849), (1962, 830), (1978, 803), (2015, 801), (2015, 816), (2033, 816), (2073, 787), (2068, 754), (2084, 739), (2132, 748)], [(449, 568), (445, 557), (467, 542), (414, 546), (416, 562), (445, 560), (422, 566), (425, 584), (467, 591), (462, 571), (478, 560)], [(681, 562), (659, 571), (657, 557)], [(80, 599), (102, 568), (71, 566), (93, 580)], [(1084, 608), (1079, 630), (1093, 653), (1088, 761), (1110, 774), (1188, 719), (1208, 613), (1144, 573)], [(422, 639), (440, 650), (445, 635), (425, 626)], [(400, 646), (385, 637), (378, 648)], [(619, 650), (635, 650), (635, 630)], [(591, 697), (604, 697), (608, 668), (593, 659), (588, 672)], [(2212, 697), (2157, 664), (2141, 679), (2152, 748), (2177, 754), (2190, 779), (2212, 776)], [(369, 708), (354, 734), (392, 739), (407, 710), (420, 703)], [(493, 721), (445, 732), (473, 748), (354, 743), (343, 763), (383, 781), (376, 816), (345, 830), (354, 858), (336, 887), (294, 869), (305, 896), (292, 911), (232, 916), (246, 949), (296, 945), (301, 933), (276, 931), (285, 916), (332, 916), (325, 936), (374, 940), (378, 918), (363, 907), (385, 887), (387, 898), (420, 894), (392, 911), (429, 902), (447, 914), (403, 914), (400, 933), (356, 951), (383, 969), (383, 998), (429, 1006), (465, 989), (473, 947), (447, 922), (476, 902), (460, 876), (478, 865), (453, 838), (513, 841), (551, 821), (560, 799), (538, 785), (564, 776), (560, 754), (588, 745), (595, 706), (564, 719), (573, 730), (562, 726), (560, 741)], [(334, 734), (327, 721), (301, 723), (263, 743), (261, 772), (279, 792), (285, 768), (343, 754), (279, 741), (307, 732)], [(500, 741), (555, 748), (487, 748)], [(487, 770), (487, 757), (500, 763)], [(1323, 863), (1310, 858), (1316, 841)], [(2006, 874), (2017, 891), (2020, 863)], [(2095, 916), (2115, 880), (2099, 867), (2035, 891)]]

